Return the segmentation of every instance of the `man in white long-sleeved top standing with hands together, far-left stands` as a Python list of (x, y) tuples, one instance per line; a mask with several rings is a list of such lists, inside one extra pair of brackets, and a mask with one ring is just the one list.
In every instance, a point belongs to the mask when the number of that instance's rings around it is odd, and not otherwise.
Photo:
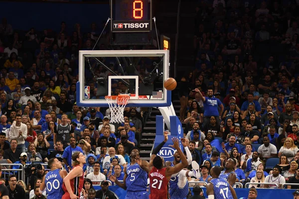
[(17, 149), (21, 152), (26, 152), (25, 139), (27, 138), (27, 126), (21, 123), (21, 115), (16, 115), (15, 122), (10, 126), (10, 131), (8, 134), (8, 139), (17, 140)]

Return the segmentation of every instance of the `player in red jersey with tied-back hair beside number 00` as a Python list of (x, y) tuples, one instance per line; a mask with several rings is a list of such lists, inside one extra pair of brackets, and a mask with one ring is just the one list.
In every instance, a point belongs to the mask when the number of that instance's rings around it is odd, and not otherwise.
[(83, 188), (85, 156), (80, 151), (76, 151), (72, 155), (72, 161), (73, 169), (63, 179), (62, 189), (65, 194), (62, 196), (62, 199), (78, 199)]

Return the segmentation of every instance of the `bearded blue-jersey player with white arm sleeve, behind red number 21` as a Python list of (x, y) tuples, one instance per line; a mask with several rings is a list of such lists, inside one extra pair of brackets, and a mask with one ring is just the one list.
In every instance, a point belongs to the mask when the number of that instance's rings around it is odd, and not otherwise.
[[(195, 161), (192, 162), (192, 155), (188, 148), (189, 140), (182, 138), (181, 143), (185, 149), (184, 154), (186, 155), (188, 165), (192, 163), (193, 171), (182, 170), (178, 174), (171, 176), (169, 181), (170, 199), (186, 199), (186, 196), (189, 193), (187, 177), (194, 176), (196, 178), (200, 178), (199, 165)], [(181, 157), (177, 151), (174, 152), (173, 157), (174, 160), (171, 163), (166, 162), (167, 166), (170, 165), (171, 167), (174, 167), (176, 164), (180, 163)]]

